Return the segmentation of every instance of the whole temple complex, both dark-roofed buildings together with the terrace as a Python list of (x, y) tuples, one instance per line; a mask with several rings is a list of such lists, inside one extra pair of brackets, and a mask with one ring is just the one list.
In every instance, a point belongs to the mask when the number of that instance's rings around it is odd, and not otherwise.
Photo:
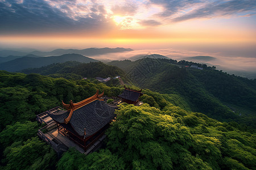
[[(58, 157), (75, 147), (82, 154), (90, 154), (104, 145), (106, 138), (105, 130), (109, 128), (110, 122), (115, 121), (115, 109), (122, 101), (128, 104), (141, 105), (139, 97), (143, 95), (140, 91), (125, 87), (118, 97), (104, 96), (104, 92), (96, 94), (79, 103), (69, 101), (63, 108), (56, 107), (36, 115), (36, 120), (44, 124), (38, 130), (38, 135), (53, 150)], [(112, 99), (109, 104), (109, 99)]]

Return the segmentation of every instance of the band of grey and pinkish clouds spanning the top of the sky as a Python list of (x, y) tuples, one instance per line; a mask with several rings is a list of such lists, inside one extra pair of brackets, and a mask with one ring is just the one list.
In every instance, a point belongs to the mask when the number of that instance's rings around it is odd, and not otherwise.
[[(253, 0), (0, 0), (0, 35), (139, 29), (189, 19), (253, 16), (255, 7)], [(117, 26), (114, 15), (132, 19)]]

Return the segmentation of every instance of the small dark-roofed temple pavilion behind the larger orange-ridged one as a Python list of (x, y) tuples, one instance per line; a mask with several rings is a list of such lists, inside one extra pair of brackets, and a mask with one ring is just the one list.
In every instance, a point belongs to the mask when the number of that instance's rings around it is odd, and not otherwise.
[(139, 103), (139, 98), (143, 95), (141, 91), (142, 90), (137, 91), (125, 87), (125, 90), (118, 97), (125, 103), (137, 105)]

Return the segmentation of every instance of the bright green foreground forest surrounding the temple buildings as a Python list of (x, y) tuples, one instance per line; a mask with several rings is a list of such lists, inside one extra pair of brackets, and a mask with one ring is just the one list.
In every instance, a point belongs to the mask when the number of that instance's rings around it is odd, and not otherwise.
[[(75, 150), (61, 159), (36, 136), (35, 116), (81, 101), (96, 90), (108, 96), (122, 87), (97, 80), (67, 80), (39, 74), (0, 74), (0, 169), (255, 169), (255, 133), (236, 122), (191, 112), (175, 95), (143, 90), (141, 107), (121, 104), (107, 131), (106, 148), (85, 156)], [(135, 88), (135, 87), (134, 87)], [(176, 101), (176, 103), (173, 103)]]

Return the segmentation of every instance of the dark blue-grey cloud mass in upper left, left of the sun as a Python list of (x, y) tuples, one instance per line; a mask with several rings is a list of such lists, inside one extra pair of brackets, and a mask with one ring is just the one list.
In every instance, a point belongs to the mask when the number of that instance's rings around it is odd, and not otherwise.
[[(94, 4), (94, 10), (76, 6), (75, 1), (24, 0), (0, 2), (0, 34), (72, 32), (114, 27), (103, 14), (105, 8)], [(79, 8), (80, 14), (73, 8)], [(86, 11), (87, 10), (87, 11)]]

